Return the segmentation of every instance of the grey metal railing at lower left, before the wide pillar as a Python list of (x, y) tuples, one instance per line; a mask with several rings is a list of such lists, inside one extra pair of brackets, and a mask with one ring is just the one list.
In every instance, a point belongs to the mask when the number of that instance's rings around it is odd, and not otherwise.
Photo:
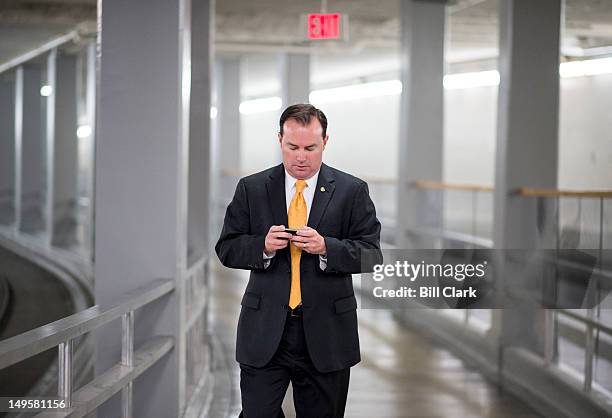
[[(174, 346), (171, 337), (154, 337), (134, 353), (134, 311), (172, 292), (174, 287), (173, 280), (154, 280), (148, 285), (128, 292), (118, 303), (111, 306), (96, 305), (0, 341), (0, 369), (50, 348), (58, 347), (58, 395), (69, 408), (65, 414), (62, 413), (64, 415), (59, 416), (84, 416), (121, 389), (123, 416), (130, 417), (132, 414), (132, 381)], [(75, 392), (77, 403), (73, 408), (72, 346), (74, 339), (119, 317), (122, 318), (121, 362)]]

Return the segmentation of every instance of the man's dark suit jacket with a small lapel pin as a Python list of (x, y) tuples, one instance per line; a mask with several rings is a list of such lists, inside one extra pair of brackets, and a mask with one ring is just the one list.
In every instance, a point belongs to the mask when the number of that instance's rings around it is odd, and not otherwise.
[[(238, 182), (215, 246), (223, 265), (251, 270), (241, 303), (236, 359), (254, 367), (270, 361), (287, 318), (289, 247), (277, 251), (264, 269), (264, 240), (272, 225), (287, 225), (282, 164)], [(327, 267), (322, 271), (318, 255), (302, 252), (300, 283), (306, 344), (317, 370), (340, 370), (360, 361), (351, 273), (371, 271), (374, 264), (382, 262), (380, 222), (367, 184), (323, 164), (308, 226), (325, 239)]]

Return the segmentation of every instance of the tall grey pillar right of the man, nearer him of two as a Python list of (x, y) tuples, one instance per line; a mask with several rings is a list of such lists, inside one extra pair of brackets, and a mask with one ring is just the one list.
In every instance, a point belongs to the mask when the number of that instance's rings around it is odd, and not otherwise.
[(398, 248), (434, 248), (434, 239), (413, 231), (442, 226), (442, 194), (418, 190), (414, 182), (442, 180), (445, 4), (401, 2)]

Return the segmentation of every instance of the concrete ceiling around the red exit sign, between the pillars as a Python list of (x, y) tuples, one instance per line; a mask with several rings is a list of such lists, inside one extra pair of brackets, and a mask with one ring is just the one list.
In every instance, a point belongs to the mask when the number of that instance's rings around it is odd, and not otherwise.
[[(320, 0), (217, 0), (216, 48), (220, 54), (284, 50), (358, 55), (397, 50), (400, 1), (328, 0), (329, 11), (349, 16), (350, 38), (313, 44), (304, 40), (299, 17), (318, 12)], [(450, 2), (450, 62), (495, 56), (497, 2)], [(566, 0), (565, 11), (564, 51), (580, 54), (584, 48), (612, 45), (612, 1)], [(80, 23), (89, 22), (92, 27), (95, 18), (96, 0), (0, 0), (0, 63)]]

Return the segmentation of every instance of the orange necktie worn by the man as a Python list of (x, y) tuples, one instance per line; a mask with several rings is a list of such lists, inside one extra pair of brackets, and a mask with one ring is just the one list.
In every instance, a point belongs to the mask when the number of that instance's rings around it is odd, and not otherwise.
[[(306, 186), (308, 185), (305, 180), (295, 182), (295, 195), (291, 199), (289, 212), (287, 213), (289, 228), (301, 228), (306, 225), (308, 211), (306, 209), (306, 200), (302, 194)], [(289, 293), (289, 307), (294, 309), (302, 301), (302, 292), (300, 290), (300, 258), (302, 257), (302, 250), (293, 243), (289, 248), (291, 251), (291, 293)]]

